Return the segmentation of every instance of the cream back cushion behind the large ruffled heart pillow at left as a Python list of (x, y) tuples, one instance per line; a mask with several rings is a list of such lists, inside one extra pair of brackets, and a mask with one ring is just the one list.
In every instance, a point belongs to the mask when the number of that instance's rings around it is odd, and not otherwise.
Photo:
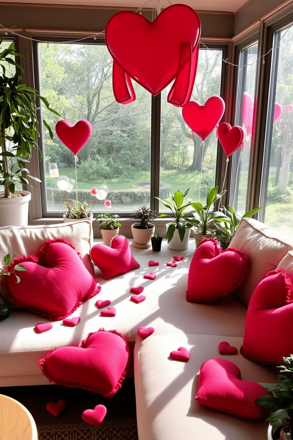
[(93, 274), (90, 248), (93, 245), (93, 229), (88, 220), (36, 226), (0, 227), (0, 267), (3, 267), (7, 253), (38, 257), (43, 243), (49, 239), (65, 238), (75, 247), (83, 259), (87, 270)]

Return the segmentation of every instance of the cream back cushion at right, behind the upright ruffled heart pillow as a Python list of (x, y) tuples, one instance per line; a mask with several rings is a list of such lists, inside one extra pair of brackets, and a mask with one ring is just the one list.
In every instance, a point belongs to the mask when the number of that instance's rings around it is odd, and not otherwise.
[(275, 270), (286, 253), (293, 249), (282, 234), (251, 218), (244, 218), (229, 247), (241, 250), (250, 258), (250, 271), (236, 290), (236, 295), (248, 305), (253, 290), (268, 271)]

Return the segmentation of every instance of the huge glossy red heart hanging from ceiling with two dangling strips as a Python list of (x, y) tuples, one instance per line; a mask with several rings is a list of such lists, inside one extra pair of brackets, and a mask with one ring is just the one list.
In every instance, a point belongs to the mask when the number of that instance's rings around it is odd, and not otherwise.
[(130, 77), (152, 95), (176, 77), (170, 102), (186, 105), (195, 78), (200, 31), (198, 15), (183, 4), (167, 7), (153, 22), (130, 11), (114, 14), (106, 25), (105, 40), (114, 59), (113, 90), (118, 102), (135, 99)]

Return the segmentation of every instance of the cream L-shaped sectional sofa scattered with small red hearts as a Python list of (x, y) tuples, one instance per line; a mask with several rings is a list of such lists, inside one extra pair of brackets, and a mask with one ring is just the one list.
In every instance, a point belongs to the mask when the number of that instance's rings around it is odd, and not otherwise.
[[(0, 260), (3, 261), (8, 252), (34, 253), (41, 242), (54, 237), (71, 241), (82, 254), (88, 270), (92, 270), (89, 260), (92, 229), (87, 221), (50, 227), (0, 228)], [(185, 251), (168, 249), (166, 240), (159, 253), (131, 247), (140, 268), (108, 281), (95, 268), (101, 292), (72, 314), (81, 318), (76, 327), (57, 321), (50, 331), (37, 334), (34, 326), (46, 320), (24, 310), (12, 311), (0, 322), (0, 386), (49, 384), (41, 374), (38, 359), (55, 347), (80, 345), (87, 334), (101, 327), (115, 329), (134, 346), (140, 440), (265, 440), (268, 422), (222, 414), (194, 400), (199, 369), (210, 358), (231, 360), (241, 370), (243, 380), (276, 381), (273, 369), (253, 363), (239, 353), (221, 356), (218, 345), (227, 341), (238, 350), (241, 347), (247, 304), (262, 275), (285, 261), (293, 281), (293, 253), (290, 252), (293, 244), (256, 220), (242, 219), (230, 246), (250, 257), (249, 275), (237, 293), (208, 305), (189, 303), (185, 299), (188, 268), (195, 251), (195, 241), (191, 238)], [(182, 255), (184, 260), (178, 262), (176, 268), (166, 266), (174, 255)], [(158, 261), (159, 266), (149, 267), (149, 260)], [(155, 280), (143, 278), (149, 272), (156, 273)], [(130, 301), (130, 288), (137, 286), (145, 288), (146, 300), (140, 304)], [(100, 316), (95, 306), (97, 299), (112, 301), (116, 316)], [(155, 332), (141, 339), (137, 335), (140, 326), (152, 326)], [(190, 351), (187, 363), (170, 359), (170, 352), (180, 346)]]

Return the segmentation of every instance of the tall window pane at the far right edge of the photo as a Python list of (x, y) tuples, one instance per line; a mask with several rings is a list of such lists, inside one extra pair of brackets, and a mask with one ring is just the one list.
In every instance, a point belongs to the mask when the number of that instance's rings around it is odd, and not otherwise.
[[(292, 25), (291, 25), (292, 26)], [(264, 143), (264, 222), (293, 238), (293, 27), (275, 31)]]

